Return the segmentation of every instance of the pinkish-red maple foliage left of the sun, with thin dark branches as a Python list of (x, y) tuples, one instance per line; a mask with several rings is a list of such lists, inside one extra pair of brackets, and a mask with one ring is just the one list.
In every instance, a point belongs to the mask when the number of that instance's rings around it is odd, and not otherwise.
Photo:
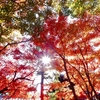
[[(15, 44), (16, 45), (16, 44)], [(31, 42), (8, 46), (0, 54), (1, 98), (32, 99), (34, 86), (34, 46)]]

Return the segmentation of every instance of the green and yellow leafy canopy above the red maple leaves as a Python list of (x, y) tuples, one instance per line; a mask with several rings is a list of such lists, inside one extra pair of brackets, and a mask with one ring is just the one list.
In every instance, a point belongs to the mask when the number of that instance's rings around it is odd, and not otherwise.
[(82, 17), (86, 12), (99, 14), (99, 5), (99, 0), (2, 0), (0, 40), (9, 40), (9, 34), (15, 29), (21, 34), (38, 35), (44, 19), (50, 15)]

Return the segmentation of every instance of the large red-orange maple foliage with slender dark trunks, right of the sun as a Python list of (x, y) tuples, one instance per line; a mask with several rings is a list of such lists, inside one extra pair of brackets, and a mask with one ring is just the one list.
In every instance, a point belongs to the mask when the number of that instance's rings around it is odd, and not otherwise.
[[(68, 22), (68, 17), (49, 17), (44, 30), (34, 43), (42, 49), (49, 49), (55, 55), (52, 66), (66, 71), (67, 82), (71, 89), (64, 88), (56, 97), (65, 100), (89, 100), (98, 97), (100, 91), (100, 16), (85, 14), (83, 18)], [(41, 42), (40, 42), (41, 41)], [(74, 82), (75, 86), (71, 83)], [(60, 89), (61, 84), (50, 84), (50, 89)]]

